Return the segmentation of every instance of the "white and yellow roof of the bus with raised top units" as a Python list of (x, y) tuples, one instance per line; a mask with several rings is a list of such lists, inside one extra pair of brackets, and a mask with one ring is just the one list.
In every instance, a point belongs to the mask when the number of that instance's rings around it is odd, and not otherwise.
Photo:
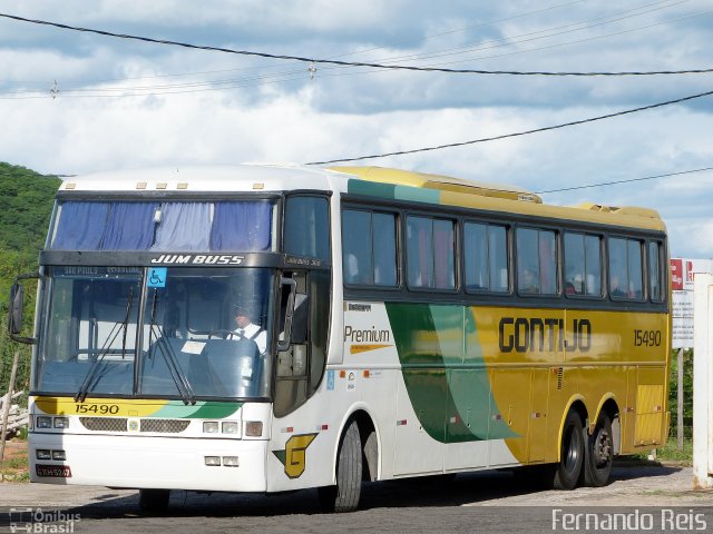
[(648, 208), (582, 204), (543, 204), (525, 189), (383, 167), (332, 167), (290, 164), (164, 167), (117, 170), (71, 177), (60, 191), (137, 194), (164, 191), (242, 192), (294, 189), (335, 190), (393, 200), (475, 208), (522, 216), (580, 220), (599, 225), (665, 231), (658, 212)]

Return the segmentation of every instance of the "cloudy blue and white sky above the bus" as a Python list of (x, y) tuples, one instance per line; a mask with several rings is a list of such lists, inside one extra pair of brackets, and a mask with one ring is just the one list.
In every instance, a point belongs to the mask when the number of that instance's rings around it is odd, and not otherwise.
[[(488, 71), (713, 69), (706, 0), (0, 0), (0, 13), (274, 56)], [(120, 39), (0, 17), (0, 161), (78, 175), (306, 164), (536, 130), (713, 91), (713, 72), (387, 70)], [(713, 96), (377, 165), (548, 204), (657, 209), (713, 257)], [(344, 164), (352, 165), (352, 164)], [(356, 165), (356, 164), (355, 164)], [(696, 172), (690, 172), (696, 171)], [(642, 179), (661, 175), (675, 175)], [(627, 181), (628, 180), (628, 181)], [(583, 186), (624, 181), (608, 186)]]

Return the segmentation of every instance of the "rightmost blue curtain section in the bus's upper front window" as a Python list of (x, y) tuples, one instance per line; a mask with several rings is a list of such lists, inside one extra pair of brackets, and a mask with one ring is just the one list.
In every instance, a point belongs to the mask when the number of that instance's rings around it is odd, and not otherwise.
[(271, 224), (270, 202), (216, 202), (211, 250), (267, 250)]

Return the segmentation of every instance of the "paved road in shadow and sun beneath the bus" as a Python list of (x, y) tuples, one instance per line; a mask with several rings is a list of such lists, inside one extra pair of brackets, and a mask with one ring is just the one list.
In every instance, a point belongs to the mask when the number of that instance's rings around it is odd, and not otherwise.
[[(673, 523), (661, 525), (661, 511), (668, 508), (674, 515), (666, 515), (666, 520), (690, 520), (693, 528), (701, 526), (703, 521), (709, 532), (713, 530), (713, 492), (692, 490), (691, 468), (618, 465), (613, 475), (613, 483), (606, 487), (574, 492), (527, 488), (509, 472), (458, 475), (451, 481), (422, 478), (367, 484), (362, 510), (334, 515), (319, 512), (313, 491), (276, 496), (173, 492), (170, 510), (165, 516), (144, 517), (139, 515), (137, 492), (134, 491), (0, 484), (0, 506), (3, 506), (2, 512), (6, 512), (4, 507), (33, 511), (41, 507), (43, 514), (61, 510), (64, 515), (47, 520), (59, 520), (55, 524), (67, 525), (67, 517), (78, 518), (71, 525), (77, 533), (551, 533), (554, 510), (564, 510), (561, 513), (565, 514), (590, 512), (600, 515), (618, 511), (637, 514), (636, 521), (651, 515), (654, 528), (649, 532), (672, 532), (667, 526)], [(619, 508), (622, 506), (628, 508)], [(558, 513), (561, 515), (555, 512)], [(8, 517), (0, 513), (0, 528), (8, 530)], [(17, 523), (17, 515), (14, 520), (16, 526), (23, 526)], [(561, 526), (561, 523), (555, 526)], [(688, 528), (676, 530), (685, 532)]]

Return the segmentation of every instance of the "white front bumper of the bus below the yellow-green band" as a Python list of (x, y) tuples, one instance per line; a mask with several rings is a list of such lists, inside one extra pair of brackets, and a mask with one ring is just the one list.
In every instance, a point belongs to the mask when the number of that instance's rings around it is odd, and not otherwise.
[(266, 449), (265, 441), (30, 433), (30, 481), (264, 492)]

